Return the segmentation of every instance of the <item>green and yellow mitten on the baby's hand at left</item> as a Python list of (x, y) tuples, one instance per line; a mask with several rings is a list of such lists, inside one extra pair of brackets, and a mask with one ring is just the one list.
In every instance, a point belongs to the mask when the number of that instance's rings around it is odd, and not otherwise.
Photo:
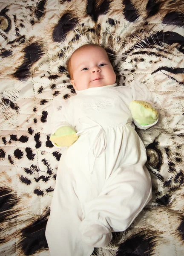
[(76, 131), (71, 126), (61, 126), (51, 135), (52, 143), (59, 147), (69, 147), (78, 139)]

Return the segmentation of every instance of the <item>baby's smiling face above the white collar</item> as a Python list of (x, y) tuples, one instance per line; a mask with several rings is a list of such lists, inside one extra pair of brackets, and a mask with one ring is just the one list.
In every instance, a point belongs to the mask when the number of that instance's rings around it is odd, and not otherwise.
[(74, 52), (71, 58), (75, 90), (85, 90), (115, 84), (116, 75), (106, 51), (101, 47), (86, 47)]

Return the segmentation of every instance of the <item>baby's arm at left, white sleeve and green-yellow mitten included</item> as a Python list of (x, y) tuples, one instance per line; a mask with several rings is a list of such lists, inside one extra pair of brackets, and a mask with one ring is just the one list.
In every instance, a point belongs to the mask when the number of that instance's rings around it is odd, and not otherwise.
[[(69, 108), (69, 106), (67, 107)], [(50, 118), (52, 134), (50, 140), (56, 147), (69, 147), (78, 139), (76, 131), (69, 120), (67, 107), (66, 102), (63, 100), (55, 101), (52, 105), (52, 116)]]

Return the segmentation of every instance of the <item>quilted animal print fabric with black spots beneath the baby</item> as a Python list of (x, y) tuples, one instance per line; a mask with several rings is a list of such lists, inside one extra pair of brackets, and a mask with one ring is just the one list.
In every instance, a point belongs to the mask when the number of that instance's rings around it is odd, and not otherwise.
[(49, 256), (45, 228), (65, 149), (49, 141), (48, 109), (75, 94), (66, 60), (87, 43), (107, 50), (119, 85), (147, 84), (160, 112), (157, 125), (138, 130), (153, 198), (93, 256), (183, 256), (183, 0), (0, 0), (0, 255)]

